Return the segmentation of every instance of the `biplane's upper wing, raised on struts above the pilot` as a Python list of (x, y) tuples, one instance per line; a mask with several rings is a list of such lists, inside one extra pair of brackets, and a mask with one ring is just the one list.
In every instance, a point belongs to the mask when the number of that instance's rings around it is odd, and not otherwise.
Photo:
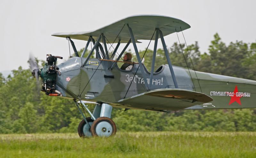
[[(181, 30), (183, 31), (190, 28), (187, 23), (176, 18), (161, 15), (135, 15), (118, 20), (110, 25), (104, 26), (97, 30), (87, 32), (54, 33), (52, 34), (52, 36), (88, 40), (89, 36), (97, 39), (100, 34), (103, 33), (108, 39), (108, 42), (110, 43), (117, 43), (118, 40), (121, 40), (121, 43), (126, 43), (130, 39), (130, 34), (127, 26), (124, 26), (125, 24), (129, 24), (129, 26), (132, 28), (135, 40), (150, 40), (156, 28), (159, 28), (163, 32), (163, 36), (166, 36), (176, 31), (180, 32)], [(153, 37), (153, 39), (155, 39), (155, 37)]]

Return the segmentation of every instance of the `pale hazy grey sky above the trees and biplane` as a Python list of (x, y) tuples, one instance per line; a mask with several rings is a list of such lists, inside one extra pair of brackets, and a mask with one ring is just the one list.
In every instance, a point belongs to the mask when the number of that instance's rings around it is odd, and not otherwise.
[[(191, 26), (184, 31), (187, 43), (198, 41), (202, 53), (207, 52), (216, 32), (226, 43), (252, 43), (256, 39), (255, 6), (255, 0), (0, 0), (0, 71), (28, 68), (29, 52), (43, 60), (46, 54), (67, 59), (68, 41), (52, 33), (90, 31), (137, 14), (159, 14), (187, 22)], [(168, 35), (165, 41), (171, 46), (178, 41), (177, 35)], [(85, 45), (82, 40), (74, 42), (77, 50)], [(144, 42), (138, 44), (140, 50), (147, 47), (148, 41)]]

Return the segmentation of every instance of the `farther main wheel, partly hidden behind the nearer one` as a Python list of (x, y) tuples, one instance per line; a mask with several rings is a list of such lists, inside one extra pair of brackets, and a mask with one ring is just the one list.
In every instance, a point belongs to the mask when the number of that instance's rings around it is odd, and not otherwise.
[(78, 135), (79, 137), (92, 137), (91, 127), (93, 119), (91, 117), (86, 118), (89, 125), (85, 122), (84, 119), (78, 125)]

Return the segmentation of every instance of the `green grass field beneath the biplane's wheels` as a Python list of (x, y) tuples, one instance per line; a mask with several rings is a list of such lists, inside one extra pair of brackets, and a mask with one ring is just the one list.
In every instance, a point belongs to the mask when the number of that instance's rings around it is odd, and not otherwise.
[(90, 139), (77, 133), (3, 134), (0, 157), (256, 158), (256, 132), (117, 133)]

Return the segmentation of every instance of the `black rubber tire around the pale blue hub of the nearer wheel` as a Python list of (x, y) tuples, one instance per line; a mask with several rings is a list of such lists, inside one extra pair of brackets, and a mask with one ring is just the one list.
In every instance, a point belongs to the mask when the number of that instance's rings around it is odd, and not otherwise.
[(116, 134), (116, 124), (115, 124), (115, 122), (114, 122), (112, 119), (109, 119), (108, 117), (99, 117), (99, 118), (95, 119), (95, 120), (93, 121), (93, 123), (92, 123), (92, 126), (91, 126), (91, 133), (92, 133), (92, 136), (93, 136), (93, 137), (97, 137), (97, 136), (98, 136), (98, 134), (96, 133), (96, 126), (97, 126), (100, 122), (102, 122), (102, 121), (106, 121), (106, 122), (108, 122), (108, 123), (111, 125), (111, 127), (112, 127), (112, 133), (111, 133), (110, 136), (115, 135), (115, 134)]

